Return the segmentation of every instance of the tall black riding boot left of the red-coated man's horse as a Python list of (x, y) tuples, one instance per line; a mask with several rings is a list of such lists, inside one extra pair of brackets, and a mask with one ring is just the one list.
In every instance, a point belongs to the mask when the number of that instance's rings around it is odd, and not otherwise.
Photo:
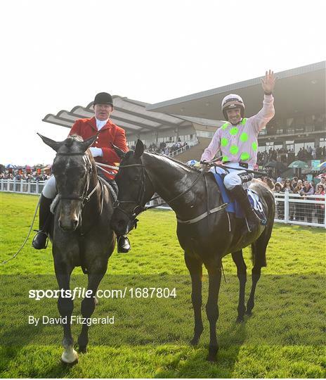
[(39, 232), (34, 236), (32, 246), (35, 249), (46, 248), (46, 240), (48, 239), (48, 229), (51, 222), (50, 205), (53, 199), (46, 198), (41, 194), (39, 200)]

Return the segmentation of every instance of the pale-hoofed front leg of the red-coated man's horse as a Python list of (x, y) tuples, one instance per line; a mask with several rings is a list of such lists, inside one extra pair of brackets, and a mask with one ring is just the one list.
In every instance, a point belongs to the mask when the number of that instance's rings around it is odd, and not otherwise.
[[(59, 289), (63, 289), (66, 293), (67, 290), (70, 290), (70, 274), (72, 272), (72, 268), (63, 268), (63, 266), (60, 265), (60, 270), (58, 270), (58, 265), (56, 265), (56, 262), (55, 268)], [(63, 317), (63, 347), (65, 348), (63, 355), (61, 355), (61, 360), (67, 364), (72, 364), (78, 361), (78, 354), (74, 350), (74, 340), (72, 338), (70, 324), (73, 309), (74, 302), (72, 298), (63, 297), (60, 294), (60, 297), (58, 298), (58, 310), (61, 317)]]

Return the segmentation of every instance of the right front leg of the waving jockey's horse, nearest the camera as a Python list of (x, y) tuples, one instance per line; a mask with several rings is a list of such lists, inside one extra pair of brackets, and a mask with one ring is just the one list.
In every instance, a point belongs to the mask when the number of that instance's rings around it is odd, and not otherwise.
[(206, 304), (206, 314), (209, 320), (209, 355), (207, 360), (213, 362), (216, 360), (216, 354), (219, 350), (219, 345), (216, 338), (216, 322), (219, 319), (219, 290), (221, 285), (221, 262), (219, 265), (206, 264), (208, 276), (209, 276), (209, 291)]

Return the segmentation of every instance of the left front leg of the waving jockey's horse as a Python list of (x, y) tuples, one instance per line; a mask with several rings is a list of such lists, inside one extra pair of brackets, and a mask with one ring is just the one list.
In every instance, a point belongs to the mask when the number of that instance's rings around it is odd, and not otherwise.
[(204, 330), (204, 327), (202, 326), (202, 262), (185, 253), (185, 265), (187, 266), (191, 277), (191, 300), (193, 301), (195, 316), (194, 336), (190, 341), (190, 344), (196, 345)]

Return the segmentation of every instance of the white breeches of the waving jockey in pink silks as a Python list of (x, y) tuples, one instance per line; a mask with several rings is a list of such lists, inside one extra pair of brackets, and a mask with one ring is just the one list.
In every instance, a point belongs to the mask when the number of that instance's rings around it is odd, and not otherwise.
[[(226, 166), (239, 167), (242, 169), (239, 163), (227, 163)], [(253, 170), (252, 165), (248, 165), (248, 169)], [(248, 173), (246, 170), (228, 168), (228, 173), (221, 167), (212, 166), (209, 171), (213, 173), (226, 174), (226, 177), (224, 177), (224, 184), (228, 190), (232, 190), (237, 185), (241, 185), (244, 189), (247, 189), (249, 187), (249, 184), (252, 182), (252, 178), (254, 177), (252, 173)]]

